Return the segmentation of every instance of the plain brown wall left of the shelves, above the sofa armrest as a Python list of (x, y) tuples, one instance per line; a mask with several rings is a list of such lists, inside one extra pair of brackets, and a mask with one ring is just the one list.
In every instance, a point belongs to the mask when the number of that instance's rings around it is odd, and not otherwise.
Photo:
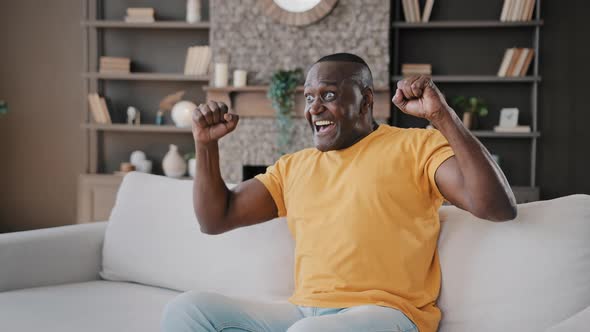
[(0, 1), (0, 232), (73, 223), (82, 169), (81, 2)]

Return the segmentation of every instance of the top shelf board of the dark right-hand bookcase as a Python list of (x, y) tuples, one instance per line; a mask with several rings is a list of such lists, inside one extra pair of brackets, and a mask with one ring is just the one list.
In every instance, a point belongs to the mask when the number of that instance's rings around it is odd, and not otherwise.
[(502, 21), (431, 21), (426, 23), (393, 22), (397, 29), (452, 29), (452, 28), (519, 28), (542, 26), (543, 20), (523, 22)]

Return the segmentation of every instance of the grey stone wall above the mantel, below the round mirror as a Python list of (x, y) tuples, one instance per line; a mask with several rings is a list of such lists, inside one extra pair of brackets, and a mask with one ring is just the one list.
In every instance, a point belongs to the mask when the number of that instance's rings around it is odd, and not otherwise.
[(268, 84), (277, 69), (307, 71), (337, 52), (361, 56), (375, 85), (389, 85), (389, 1), (339, 0), (328, 16), (304, 27), (265, 16), (257, 0), (213, 0), (210, 6), (214, 60), (229, 56), (230, 73), (247, 70), (250, 85)]

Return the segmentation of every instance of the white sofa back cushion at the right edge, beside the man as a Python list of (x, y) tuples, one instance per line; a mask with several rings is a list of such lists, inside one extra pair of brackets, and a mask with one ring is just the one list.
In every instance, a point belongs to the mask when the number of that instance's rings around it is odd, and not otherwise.
[(590, 306), (590, 196), (523, 204), (506, 223), (440, 212), (441, 332), (542, 331)]

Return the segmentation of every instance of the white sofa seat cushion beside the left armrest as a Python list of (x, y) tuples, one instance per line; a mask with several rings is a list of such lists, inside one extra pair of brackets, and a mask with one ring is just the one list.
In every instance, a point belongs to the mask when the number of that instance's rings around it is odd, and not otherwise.
[(178, 293), (112, 281), (90, 281), (0, 293), (0, 331), (157, 332)]

